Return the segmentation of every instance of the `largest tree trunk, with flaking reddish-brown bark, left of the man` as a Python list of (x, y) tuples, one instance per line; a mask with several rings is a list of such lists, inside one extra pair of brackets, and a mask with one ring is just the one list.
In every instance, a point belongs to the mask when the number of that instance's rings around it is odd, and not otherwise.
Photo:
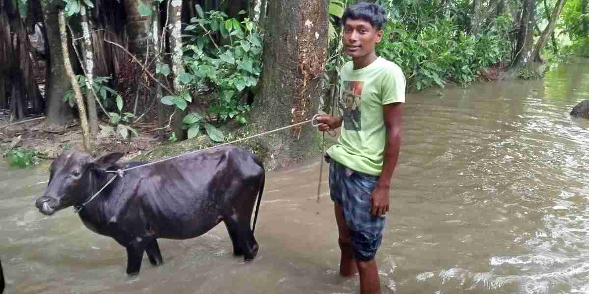
[[(268, 2), (264, 72), (260, 97), (254, 101), (254, 133), (312, 118), (321, 94), (327, 51), (327, 0)], [(315, 151), (316, 130), (310, 124), (260, 137), (266, 148), (264, 166), (281, 168)]]

